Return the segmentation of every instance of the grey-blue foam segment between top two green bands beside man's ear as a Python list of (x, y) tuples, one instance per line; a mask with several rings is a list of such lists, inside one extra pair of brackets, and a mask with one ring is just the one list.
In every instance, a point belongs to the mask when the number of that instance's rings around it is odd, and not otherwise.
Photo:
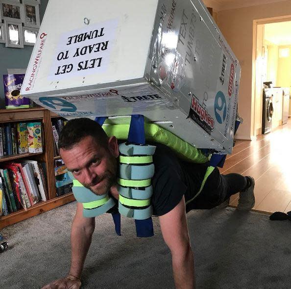
[(155, 172), (154, 164), (130, 165), (121, 163), (119, 165), (119, 176), (126, 180), (146, 180), (151, 179)]

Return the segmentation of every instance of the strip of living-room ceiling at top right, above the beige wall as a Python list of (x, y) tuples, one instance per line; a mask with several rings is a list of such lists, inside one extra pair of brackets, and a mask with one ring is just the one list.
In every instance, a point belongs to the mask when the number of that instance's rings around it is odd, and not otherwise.
[(284, 0), (202, 0), (207, 7), (215, 11), (256, 6), (267, 3), (282, 2)]

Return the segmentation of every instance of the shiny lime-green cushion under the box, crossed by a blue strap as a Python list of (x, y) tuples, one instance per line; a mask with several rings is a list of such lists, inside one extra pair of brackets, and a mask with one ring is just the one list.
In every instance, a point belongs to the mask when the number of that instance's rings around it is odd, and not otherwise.
[[(127, 139), (129, 124), (103, 125), (102, 128), (108, 136), (115, 135), (117, 139)], [(199, 149), (156, 124), (145, 123), (145, 138), (147, 141), (161, 143), (170, 147), (180, 158), (185, 160), (195, 163), (205, 163), (209, 160), (209, 157), (205, 157)]]

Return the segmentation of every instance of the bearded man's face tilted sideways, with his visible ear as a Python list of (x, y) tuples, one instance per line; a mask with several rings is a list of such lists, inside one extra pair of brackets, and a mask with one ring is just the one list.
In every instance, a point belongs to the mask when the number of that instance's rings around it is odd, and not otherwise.
[(86, 136), (72, 149), (60, 149), (60, 154), (75, 179), (95, 194), (103, 195), (116, 184), (119, 153), (115, 137), (109, 138), (108, 148), (104, 148)]

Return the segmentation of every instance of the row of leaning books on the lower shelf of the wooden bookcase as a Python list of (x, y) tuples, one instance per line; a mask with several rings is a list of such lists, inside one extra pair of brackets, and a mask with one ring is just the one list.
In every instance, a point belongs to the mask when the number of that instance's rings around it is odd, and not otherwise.
[(22, 159), (0, 166), (0, 215), (27, 210), (48, 199), (45, 166)]

